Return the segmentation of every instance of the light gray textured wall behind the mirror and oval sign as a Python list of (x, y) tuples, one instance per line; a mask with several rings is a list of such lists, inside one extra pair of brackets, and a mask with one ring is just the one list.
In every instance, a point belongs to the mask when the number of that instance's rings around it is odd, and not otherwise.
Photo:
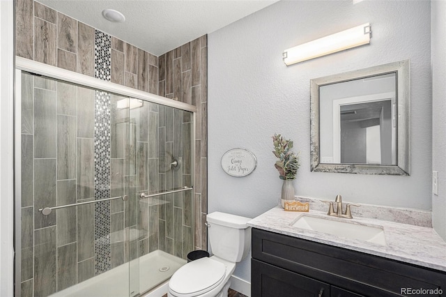
[[(277, 205), (282, 181), (271, 136), (294, 141), (301, 164), (296, 195), (431, 209), (431, 3), (429, 1), (279, 1), (208, 35), (209, 211), (255, 217)], [(370, 45), (285, 66), (295, 45), (370, 22)], [(310, 172), (309, 80), (410, 59), (410, 176)], [(244, 178), (223, 172), (220, 158), (243, 147), (258, 160)], [(250, 279), (249, 261), (236, 275)]]

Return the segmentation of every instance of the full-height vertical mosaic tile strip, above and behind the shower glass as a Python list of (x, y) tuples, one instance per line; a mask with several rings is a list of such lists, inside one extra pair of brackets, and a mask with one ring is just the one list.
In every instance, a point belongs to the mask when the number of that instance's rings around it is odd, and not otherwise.
[[(95, 30), (95, 77), (111, 79), (112, 38)], [(110, 95), (95, 92), (95, 199), (110, 197)], [(95, 274), (109, 271), (110, 201), (95, 204)]]

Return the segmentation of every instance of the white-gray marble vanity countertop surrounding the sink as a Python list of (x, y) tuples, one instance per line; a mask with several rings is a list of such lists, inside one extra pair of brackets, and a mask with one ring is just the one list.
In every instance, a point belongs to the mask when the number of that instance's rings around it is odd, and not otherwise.
[[(291, 226), (301, 215), (383, 227), (387, 245), (379, 245), (357, 239), (341, 238), (318, 231)], [(248, 226), (318, 243), (325, 243), (339, 248), (374, 254), (379, 257), (403, 261), (439, 271), (446, 271), (446, 243), (430, 227), (420, 227), (413, 224), (401, 224), (371, 218), (353, 218), (351, 220), (335, 218), (329, 217), (322, 211), (310, 210), (309, 213), (298, 213), (284, 211), (280, 206), (272, 208), (270, 211), (250, 220)]]

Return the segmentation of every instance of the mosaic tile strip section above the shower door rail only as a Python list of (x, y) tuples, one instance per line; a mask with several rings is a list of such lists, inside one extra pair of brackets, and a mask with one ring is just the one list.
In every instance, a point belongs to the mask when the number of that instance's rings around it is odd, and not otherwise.
[(112, 37), (95, 30), (95, 78), (112, 79)]

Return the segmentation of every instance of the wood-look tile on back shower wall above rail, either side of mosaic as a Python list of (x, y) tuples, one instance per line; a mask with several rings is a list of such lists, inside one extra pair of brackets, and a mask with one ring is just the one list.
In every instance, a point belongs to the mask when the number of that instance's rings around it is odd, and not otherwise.
[[(95, 29), (33, 0), (16, 3), (16, 54), (95, 76)], [(158, 57), (112, 36), (112, 79), (158, 93)]]

